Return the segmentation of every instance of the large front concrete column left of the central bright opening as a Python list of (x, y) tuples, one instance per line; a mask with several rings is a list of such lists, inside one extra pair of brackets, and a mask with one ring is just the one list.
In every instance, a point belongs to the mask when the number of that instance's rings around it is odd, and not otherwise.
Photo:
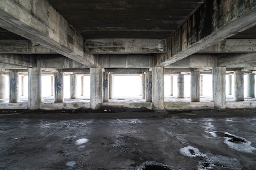
[(90, 68), (90, 108), (100, 109), (102, 101), (102, 69)]

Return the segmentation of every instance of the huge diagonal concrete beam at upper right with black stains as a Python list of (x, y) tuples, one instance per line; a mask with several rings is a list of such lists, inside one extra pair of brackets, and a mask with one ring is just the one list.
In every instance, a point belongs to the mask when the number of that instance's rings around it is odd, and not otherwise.
[[(225, 10), (223, 10), (225, 9)], [(256, 3), (248, 0), (207, 0), (169, 39), (171, 51), (156, 54), (165, 67), (256, 25)]]

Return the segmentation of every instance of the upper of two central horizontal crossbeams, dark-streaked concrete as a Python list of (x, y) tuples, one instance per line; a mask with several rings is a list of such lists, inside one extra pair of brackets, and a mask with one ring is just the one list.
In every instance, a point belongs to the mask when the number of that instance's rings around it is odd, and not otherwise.
[(89, 54), (155, 54), (168, 52), (166, 39), (87, 39)]

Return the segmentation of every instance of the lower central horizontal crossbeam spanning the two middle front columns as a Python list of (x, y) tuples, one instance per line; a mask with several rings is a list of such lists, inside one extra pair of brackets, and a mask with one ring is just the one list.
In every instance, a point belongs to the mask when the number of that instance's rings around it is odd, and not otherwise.
[(100, 55), (103, 68), (151, 68), (153, 56), (146, 54), (134, 55)]

